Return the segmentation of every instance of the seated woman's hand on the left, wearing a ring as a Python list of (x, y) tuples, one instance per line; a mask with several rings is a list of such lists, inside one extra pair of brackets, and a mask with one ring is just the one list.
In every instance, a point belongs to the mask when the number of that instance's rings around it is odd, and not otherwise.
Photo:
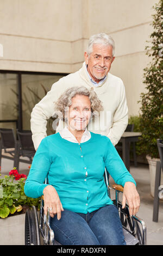
[(49, 214), (53, 218), (57, 214), (57, 219), (61, 218), (61, 211), (64, 211), (60, 198), (57, 191), (51, 185), (48, 185), (43, 190), (43, 201), (44, 201), (44, 212), (47, 215), (47, 209), (49, 209)]

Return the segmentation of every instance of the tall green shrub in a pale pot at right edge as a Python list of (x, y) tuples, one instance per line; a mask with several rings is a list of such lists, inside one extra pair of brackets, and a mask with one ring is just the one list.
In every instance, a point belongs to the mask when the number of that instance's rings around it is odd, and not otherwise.
[(141, 151), (146, 153), (151, 174), (151, 194), (154, 196), (154, 182), (156, 161), (159, 153), (156, 139), (163, 139), (163, 105), (162, 105), (162, 81), (163, 81), (163, 0), (154, 5), (153, 33), (151, 34), (151, 46), (147, 46), (147, 55), (151, 62), (144, 69), (144, 81), (146, 92), (141, 93)]

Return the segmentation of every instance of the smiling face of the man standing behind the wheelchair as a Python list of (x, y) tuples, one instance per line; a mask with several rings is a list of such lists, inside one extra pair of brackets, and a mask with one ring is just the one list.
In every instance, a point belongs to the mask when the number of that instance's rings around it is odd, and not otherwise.
[(111, 63), (115, 59), (112, 57), (112, 46), (103, 44), (94, 44), (92, 53), (84, 53), (87, 71), (95, 82), (102, 80), (108, 74)]

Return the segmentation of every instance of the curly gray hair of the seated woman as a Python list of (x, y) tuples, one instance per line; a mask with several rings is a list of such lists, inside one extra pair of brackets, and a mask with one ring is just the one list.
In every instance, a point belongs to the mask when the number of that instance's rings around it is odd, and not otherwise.
[(55, 111), (57, 111), (60, 119), (65, 120), (65, 112), (67, 108), (72, 105), (72, 98), (76, 95), (89, 96), (91, 101), (91, 112), (93, 115), (99, 114), (103, 111), (102, 102), (98, 99), (97, 94), (94, 92), (93, 88), (90, 90), (86, 87), (71, 87), (68, 88), (64, 93), (62, 93), (55, 104)]

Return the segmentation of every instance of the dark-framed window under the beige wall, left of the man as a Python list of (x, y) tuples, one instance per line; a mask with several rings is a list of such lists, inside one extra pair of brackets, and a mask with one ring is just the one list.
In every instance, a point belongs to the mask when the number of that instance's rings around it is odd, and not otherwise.
[[(67, 74), (0, 71), (0, 127), (30, 130), (33, 107), (51, 89), (52, 84)], [(47, 135), (54, 133), (52, 119)]]

